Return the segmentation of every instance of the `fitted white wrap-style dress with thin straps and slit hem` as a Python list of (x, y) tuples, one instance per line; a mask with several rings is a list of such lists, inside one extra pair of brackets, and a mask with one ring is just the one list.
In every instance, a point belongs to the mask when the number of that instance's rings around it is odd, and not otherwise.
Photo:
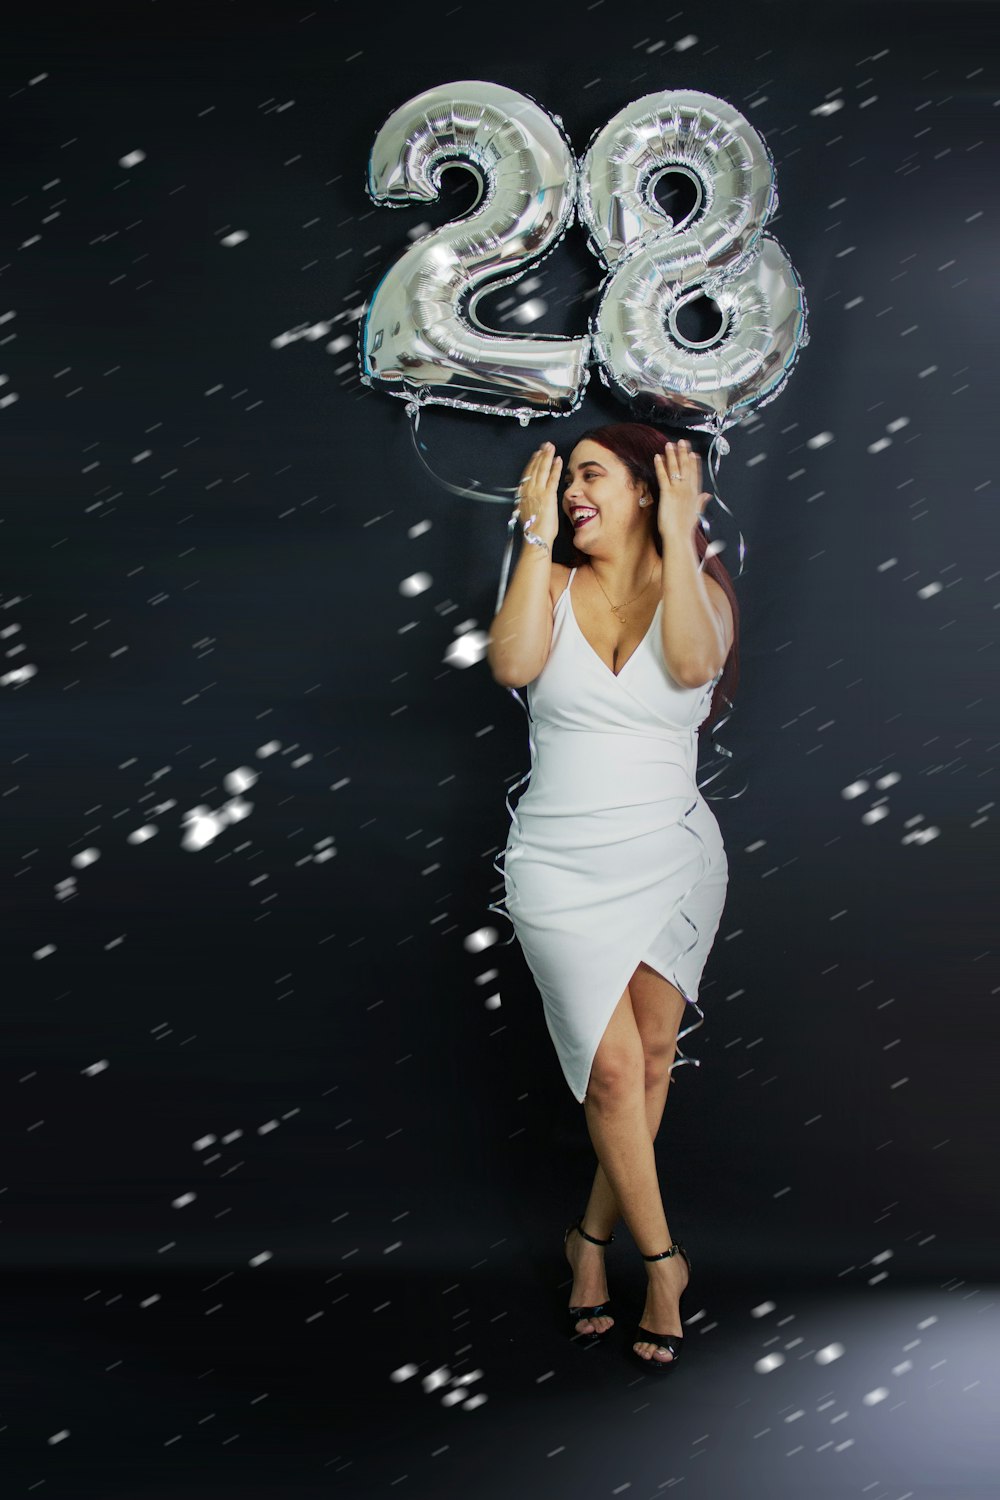
[[(528, 684), (531, 770), (504, 860), (504, 910), (541, 994), (565, 1080), (583, 1102), (594, 1054), (640, 960), (699, 1020), (702, 970), (726, 904), (729, 861), (697, 782), (697, 728), (715, 684), (670, 676), (657, 604), (615, 675), (580, 630), (570, 582), (549, 658)], [(517, 696), (517, 694), (514, 694)], [(520, 702), (520, 699), (519, 699)], [(523, 705), (522, 705), (523, 706)], [(514, 783), (514, 788), (520, 783)], [(514, 790), (511, 788), (511, 790)], [(673, 1066), (700, 1064), (676, 1050)]]

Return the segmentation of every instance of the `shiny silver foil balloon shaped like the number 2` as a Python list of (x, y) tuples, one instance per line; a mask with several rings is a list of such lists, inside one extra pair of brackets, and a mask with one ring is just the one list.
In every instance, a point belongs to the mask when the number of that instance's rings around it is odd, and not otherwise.
[(417, 240), (379, 282), (360, 334), (366, 384), (522, 422), (579, 406), (589, 336), (504, 338), (475, 321), (478, 298), (517, 280), (573, 222), (577, 170), (561, 126), (514, 88), (478, 81), (429, 88), (393, 111), (372, 147), (369, 196), (432, 202), (444, 166), (460, 160), (480, 198), (471, 214)]

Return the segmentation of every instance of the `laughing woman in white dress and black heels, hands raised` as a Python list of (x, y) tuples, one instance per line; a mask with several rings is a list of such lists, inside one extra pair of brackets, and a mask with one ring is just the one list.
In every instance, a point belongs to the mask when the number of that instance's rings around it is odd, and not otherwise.
[[(679, 1354), (690, 1262), (667, 1228), (654, 1140), (685, 1006), (702, 1017), (688, 1030), (703, 1020), (697, 990), (729, 884), (696, 782), (699, 726), (738, 674), (732, 580), (718, 558), (702, 566), (708, 500), (691, 446), (655, 428), (592, 429), (565, 476), (544, 442), (519, 486), (537, 543), (522, 548), (487, 650), (499, 684), (528, 684), (532, 723), (507, 914), (598, 1158), (564, 1236), (570, 1316), (574, 1334), (613, 1326), (603, 1246), (624, 1215), (648, 1262), (633, 1350), (655, 1368)], [(574, 567), (552, 560), (561, 513)]]

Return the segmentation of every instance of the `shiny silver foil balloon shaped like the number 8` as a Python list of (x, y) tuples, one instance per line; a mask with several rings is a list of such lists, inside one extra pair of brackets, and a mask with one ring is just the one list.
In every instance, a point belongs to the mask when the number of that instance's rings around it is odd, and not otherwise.
[[(655, 198), (675, 172), (696, 190), (679, 222)], [(783, 388), (808, 333), (802, 285), (763, 234), (777, 204), (768, 147), (714, 94), (645, 94), (595, 132), (580, 218), (610, 276), (592, 316), (594, 352), (636, 414), (718, 434)], [(721, 324), (696, 340), (679, 320), (702, 297)]]

